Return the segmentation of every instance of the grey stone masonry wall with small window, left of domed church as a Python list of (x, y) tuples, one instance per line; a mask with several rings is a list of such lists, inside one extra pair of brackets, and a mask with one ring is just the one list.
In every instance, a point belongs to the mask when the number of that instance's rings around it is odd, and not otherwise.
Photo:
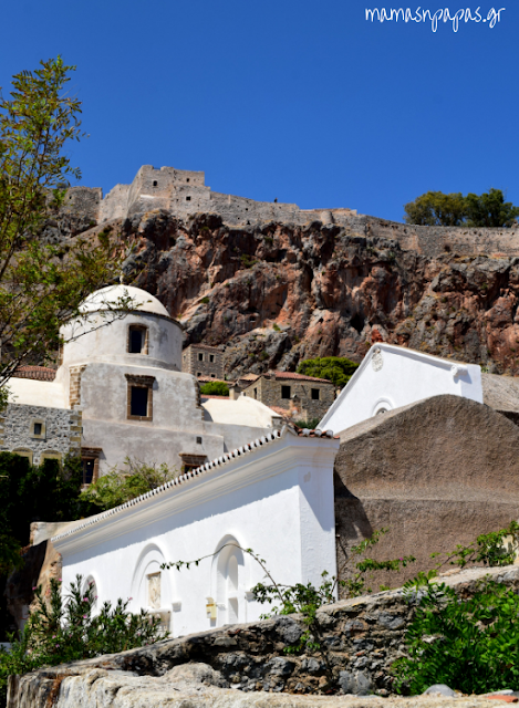
[[(34, 423), (43, 424), (41, 437), (33, 434)], [(33, 465), (45, 454), (80, 455), (81, 430), (80, 410), (9, 404), (0, 418), (0, 451), (30, 451)]]

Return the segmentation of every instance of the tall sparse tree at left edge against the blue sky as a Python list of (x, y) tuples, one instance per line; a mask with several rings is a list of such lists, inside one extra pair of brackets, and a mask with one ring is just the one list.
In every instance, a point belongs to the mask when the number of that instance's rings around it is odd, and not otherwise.
[(113, 279), (121, 260), (106, 235), (97, 243), (71, 239), (65, 257), (42, 237), (70, 179), (81, 177), (69, 152), (82, 136), (81, 103), (65, 91), (74, 69), (61, 58), (43, 61), (0, 96), (0, 385), (25, 358), (58, 348), (60, 325), (79, 316), (81, 301)]

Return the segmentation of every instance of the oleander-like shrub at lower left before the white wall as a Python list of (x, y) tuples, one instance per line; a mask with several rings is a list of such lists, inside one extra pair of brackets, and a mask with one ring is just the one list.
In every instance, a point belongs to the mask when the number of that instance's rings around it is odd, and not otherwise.
[(21, 638), (11, 637), (9, 653), (0, 649), (1, 698), (6, 698), (9, 675), (124, 652), (167, 636), (159, 627), (159, 620), (144, 610), (138, 615), (127, 612), (129, 601), (120, 598), (114, 607), (105, 602), (95, 613), (94, 587), (82, 585), (83, 580), (77, 575), (65, 602), (61, 582), (55, 579), (51, 580), (49, 602), (42, 596), (41, 586), (35, 590), (37, 606)]

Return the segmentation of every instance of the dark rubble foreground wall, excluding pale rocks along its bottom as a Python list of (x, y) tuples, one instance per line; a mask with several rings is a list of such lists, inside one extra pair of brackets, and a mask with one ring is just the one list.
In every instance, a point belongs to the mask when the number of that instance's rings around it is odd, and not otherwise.
[[(454, 586), (459, 595), (467, 596), (486, 574), (518, 592), (518, 566), (471, 569), (442, 580)], [(128, 679), (131, 676), (157, 677), (158, 688), (163, 685), (159, 677), (166, 678), (176, 666), (194, 663), (218, 670), (224, 678), (220, 686), (245, 693), (388, 696), (393, 693), (392, 665), (405, 655), (405, 632), (415, 606), (416, 597), (406, 597), (402, 589), (326, 605), (318, 612), (320, 629), (316, 638), (321, 649), (315, 653), (287, 654), (286, 649), (297, 644), (304, 631), (302, 617), (290, 615), (226, 626), (98, 659), (41, 669), (21, 679), (11, 678), (8, 707), (49, 706), (44, 701), (54, 687), (56, 705), (72, 708), (65, 699), (70, 687), (76, 677), (92, 677), (96, 668), (108, 670), (118, 678), (122, 674), (117, 671), (125, 673)], [(126, 690), (131, 690), (128, 679), (123, 679)], [(152, 689), (149, 686), (148, 690)], [(173, 696), (178, 689), (169, 690)], [(40, 698), (37, 699), (38, 696)], [(131, 696), (132, 693), (128, 699)], [(175, 700), (179, 698), (177, 693)], [(297, 701), (295, 697), (292, 699)], [(245, 705), (245, 701), (242, 696), (238, 702)], [(95, 705), (104, 708), (108, 702)], [(129, 700), (127, 705), (136, 704)]]

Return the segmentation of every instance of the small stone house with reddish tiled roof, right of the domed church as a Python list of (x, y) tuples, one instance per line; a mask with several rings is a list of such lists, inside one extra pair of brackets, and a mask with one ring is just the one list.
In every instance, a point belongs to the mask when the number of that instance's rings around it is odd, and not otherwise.
[(310, 421), (321, 418), (333, 404), (335, 386), (325, 378), (271, 371), (249, 383), (242, 395), (282, 409), (293, 419)]

